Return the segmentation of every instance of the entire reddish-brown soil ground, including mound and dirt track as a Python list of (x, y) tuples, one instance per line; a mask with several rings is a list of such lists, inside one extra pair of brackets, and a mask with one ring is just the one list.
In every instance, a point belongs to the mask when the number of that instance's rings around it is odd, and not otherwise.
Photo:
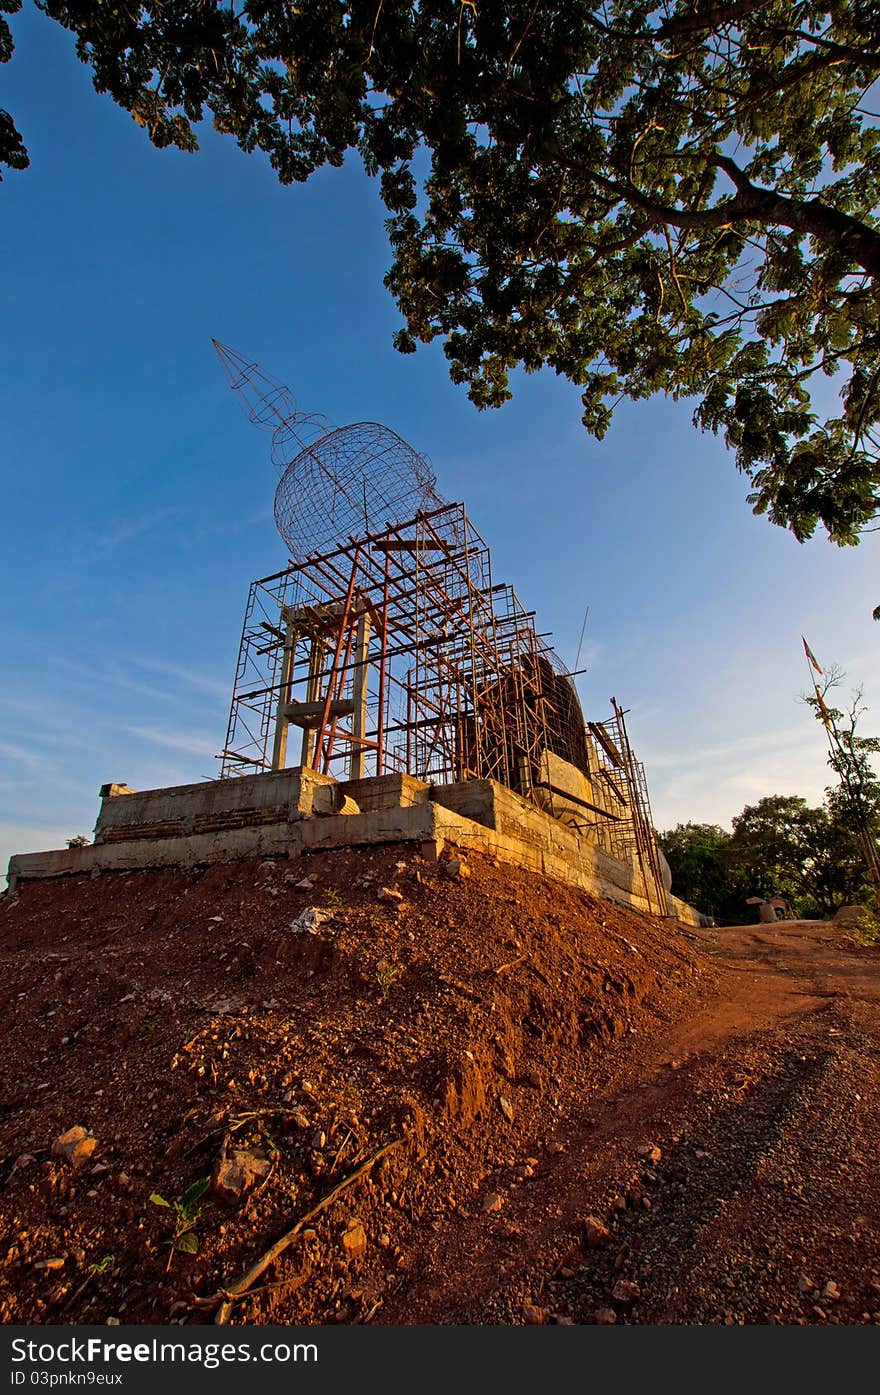
[[(3, 1321), (880, 1320), (877, 953), (445, 870), (349, 850), (0, 897)], [(172, 1249), (151, 1196), (234, 1151), (268, 1173)]]

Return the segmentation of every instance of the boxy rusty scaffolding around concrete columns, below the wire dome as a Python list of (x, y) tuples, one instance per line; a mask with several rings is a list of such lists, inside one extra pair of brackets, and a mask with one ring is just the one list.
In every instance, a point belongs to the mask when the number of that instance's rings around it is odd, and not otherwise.
[[(301, 730), (287, 759), (287, 728)], [(462, 504), (254, 582), (222, 774), (491, 778), (529, 795), (541, 752), (586, 767), (570, 677)]]

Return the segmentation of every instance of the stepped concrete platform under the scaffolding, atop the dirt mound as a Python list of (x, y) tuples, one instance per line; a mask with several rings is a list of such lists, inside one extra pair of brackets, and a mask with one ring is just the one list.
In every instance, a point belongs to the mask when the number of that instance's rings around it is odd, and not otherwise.
[(699, 923), (697, 912), (668, 893), (658, 905), (637, 868), (491, 780), (428, 787), (409, 776), (382, 776), (337, 785), (311, 770), (291, 769), (107, 792), (93, 844), (18, 854), (10, 859), (8, 879), (14, 887), (39, 877), (298, 858), (375, 843), (413, 843), (431, 859), (446, 850), (478, 852), (639, 911)]

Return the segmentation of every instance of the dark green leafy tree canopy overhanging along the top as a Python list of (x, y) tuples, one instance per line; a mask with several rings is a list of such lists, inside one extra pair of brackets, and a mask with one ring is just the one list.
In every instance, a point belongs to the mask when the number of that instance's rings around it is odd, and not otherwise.
[(155, 145), (209, 116), (285, 183), (360, 151), (397, 347), (442, 339), (478, 407), (545, 365), (600, 438), (622, 398), (690, 398), (756, 512), (841, 544), (876, 518), (876, 0), (40, 8)]

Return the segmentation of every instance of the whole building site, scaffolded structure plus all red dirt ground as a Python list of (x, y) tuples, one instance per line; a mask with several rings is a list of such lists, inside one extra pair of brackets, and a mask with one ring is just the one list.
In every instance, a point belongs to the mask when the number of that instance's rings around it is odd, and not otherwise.
[(218, 778), (10, 862), (0, 1321), (880, 1321), (872, 951), (678, 900), (466, 505), (215, 349), (287, 564)]

